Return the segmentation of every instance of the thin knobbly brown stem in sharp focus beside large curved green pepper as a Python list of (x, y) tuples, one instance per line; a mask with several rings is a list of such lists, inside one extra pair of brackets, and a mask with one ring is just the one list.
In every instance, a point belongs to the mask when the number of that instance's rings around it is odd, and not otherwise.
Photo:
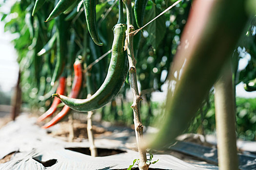
[[(123, 0), (126, 7), (127, 14), (127, 32), (129, 34), (134, 31), (133, 27), (133, 14), (132, 14), (132, 5), (131, 0)], [(148, 170), (149, 165), (146, 164), (147, 155), (146, 150), (142, 148), (142, 139), (143, 139), (143, 125), (140, 120), (140, 101), (142, 97), (138, 94), (138, 85), (137, 85), (137, 76), (136, 76), (136, 59), (134, 57), (133, 51), (133, 34), (129, 34), (127, 37), (127, 55), (129, 60), (129, 78), (131, 89), (133, 92), (133, 114), (134, 114), (134, 128), (135, 135), (138, 145), (138, 153), (139, 153), (139, 170)]]

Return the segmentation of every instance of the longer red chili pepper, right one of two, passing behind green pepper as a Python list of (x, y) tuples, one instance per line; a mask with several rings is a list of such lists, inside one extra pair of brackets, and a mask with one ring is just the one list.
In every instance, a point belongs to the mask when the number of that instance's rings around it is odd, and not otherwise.
[[(74, 63), (74, 71), (75, 71), (75, 78), (73, 81), (72, 90), (71, 90), (71, 94), (70, 94), (71, 98), (78, 97), (79, 91), (80, 91), (80, 88), (82, 85), (82, 65), (79, 60), (77, 60)], [(69, 110), (70, 110), (70, 107), (65, 105), (63, 107), (63, 109), (59, 112), (59, 114), (56, 115), (51, 121), (46, 123), (44, 126), (42, 126), (42, 128), (46, 129), (46, 128), (49, 128), (49, 127), (55, 125), (56, 123), (59, 122), (59, 120), (63, 119), (68, 114)]]

